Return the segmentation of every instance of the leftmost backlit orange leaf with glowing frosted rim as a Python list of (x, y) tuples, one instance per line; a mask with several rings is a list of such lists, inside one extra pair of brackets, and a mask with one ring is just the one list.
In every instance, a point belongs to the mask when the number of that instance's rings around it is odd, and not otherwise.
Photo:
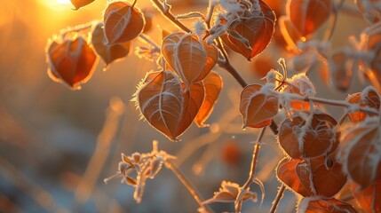
[(55, 82), (66, 83), (72, 90), (80, 89), (95, 69), (97, 55), (82, 36), (63, 43), (52, 41), (47, 48), (48, 75)]

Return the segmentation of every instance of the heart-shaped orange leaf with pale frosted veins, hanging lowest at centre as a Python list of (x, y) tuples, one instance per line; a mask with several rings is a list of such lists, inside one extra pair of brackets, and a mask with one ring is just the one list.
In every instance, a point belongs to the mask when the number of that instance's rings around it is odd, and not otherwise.
[(171, 140), (178, 140), (194, 121), (204, 98), (202, 83), (194, 83), (189, 91), (171, 71), (146, 76), (135, 94), (141, 114), (156, 130)]

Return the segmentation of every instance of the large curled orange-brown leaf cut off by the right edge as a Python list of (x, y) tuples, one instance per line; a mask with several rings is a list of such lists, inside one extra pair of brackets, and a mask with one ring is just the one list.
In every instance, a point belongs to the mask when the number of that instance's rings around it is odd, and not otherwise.
[(342, 141), (345, 173), (362, 188), (381, 179), (381, 123), (377, 116), (368, 117), (347, 128)]

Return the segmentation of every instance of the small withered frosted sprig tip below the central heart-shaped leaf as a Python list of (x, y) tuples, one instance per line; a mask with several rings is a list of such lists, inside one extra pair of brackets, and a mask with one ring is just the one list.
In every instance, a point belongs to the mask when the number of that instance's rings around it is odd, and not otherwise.
[[(118, 170), (115, 175), (104, 179), (107, 184), (109, 180), (115, 177), (122, 177), (121, 182), (135, 187), (133, 198), (138, 203), (144, 193), (147, 178), (155, 178), (162, 169), (163, 163), (176, 157), (158, 150), (157, 141), (153, 141), (153, 150), (150, 153), (134, 153), (130, 156), (122, 154), (122, 161), (118, 164)], [(136, 177), (131, 177), (131, 172), (136, 172)]]

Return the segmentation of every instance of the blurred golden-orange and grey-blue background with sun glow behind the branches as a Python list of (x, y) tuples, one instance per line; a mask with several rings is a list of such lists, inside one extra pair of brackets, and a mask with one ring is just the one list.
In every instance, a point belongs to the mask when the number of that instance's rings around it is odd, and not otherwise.
[[(175, 13), (205, 12), (207, 1), (170, 4)], [(139, 121), (139, 112), (130, 101), (140, 79), (155, 69), (152, 61), (132, 53), (103, 72), (105, 64), (99, 60), (94, 75), (81, 91), (70, 91), (49, 79), (45, 62), (47, 39), (62, 28), (100, 20), (105, 5), (106, 0), (96, 0), (74, 11), (66, 0), (2, 2), (0, 212), (196, 212), (196, 202), (171, 170), (164, 169), (155, 179), (147, 180), (140, 204), (133, 200), (130, 185), (121, 185), (119, 179), (104, 184), (105, 177), (115, 174), (121, 153), (150, 152), (154, 139), (161, 149), (178, 156), (175, 163), (179, 170), (204, 199), (218, 191), (222, 180), (241, 185), (246, 181), (251, 142), (257, 138), (258, 130), (241, 130), (238, 103), (242, 88), (225, 70), (216, 68), (224, 79), (224, 88), (208, 120), (210, 127), (198, 129), (193, 124), (179, 143), (172, 143), (147, 122)], [(154, 15), (154, 29), (148, 36), (160, 43), (160, 31), (155, 26), (174, 28), (155, 12), (149, 1), (139, 0), (138, 6)], [(333, 37), (336, 47), (345, 45), (346, 36), (358, 35), (365, 26), (361, 19), (347, 20), (352, 15), (340, 15)], [(358, 23), (348, 28), (345, 21)], [(134, 41), (133, 45), (145, 44)], [(238, 54), (231, 55), (234, 67), (247, 82), (258, 83), (263, 75), (258, 64)], [(261, 57), (274, 63), (288, 55), (272, 45)], [(311, 78), (318, 88), (317, 96), (345, 99), (346, 94), (329, 91), (319, 73), (313, 73)], [(353, 86), (351, 91), (360, 91), (362, 87)], [(257, 177), (265, 184), (265, 201), (259, 209), (262, 193), (253, 184), (251, 190), (258, 193), (258, 202), (245, 202), (243, 212), (268, 212), (280, 186), (274, 168), (283, 154), (269, 130), (263, 142), (266, 144), (259, 155)], [(282, 212), (293, 212), (296, 201), (292, 193), (286, 192), (281, 201)], [(234, 211), (232, 203), (210, 206), (216, 212)]]

